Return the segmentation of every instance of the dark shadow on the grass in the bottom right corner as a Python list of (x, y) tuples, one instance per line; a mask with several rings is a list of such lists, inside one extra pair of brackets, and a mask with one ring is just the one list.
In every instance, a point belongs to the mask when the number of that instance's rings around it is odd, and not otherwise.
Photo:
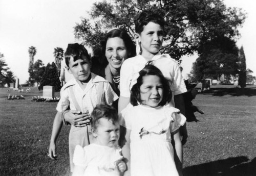
[(250, 176), (256, 173), (256, 158), (235, 157), (189, 166), (183, 169), (184, 176)]

